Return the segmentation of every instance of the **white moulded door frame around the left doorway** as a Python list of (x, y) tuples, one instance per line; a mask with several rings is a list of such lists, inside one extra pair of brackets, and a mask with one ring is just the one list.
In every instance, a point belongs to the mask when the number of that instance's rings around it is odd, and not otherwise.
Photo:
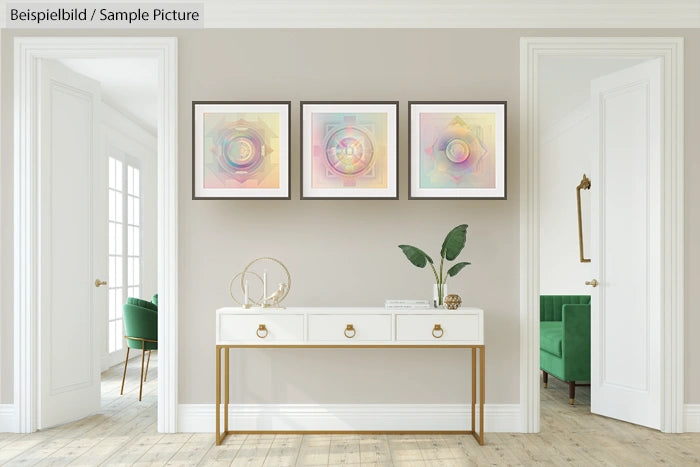
[[(158, 61), (158, 431), (177, 431), (177, 40), (171, 37), (16, 37), (14, 44), (14, 405), (17, 432), (37, 426), (41, 265), (37, 61), (151, 57)], [(99, 357), (99, 356), (98, 356)]]

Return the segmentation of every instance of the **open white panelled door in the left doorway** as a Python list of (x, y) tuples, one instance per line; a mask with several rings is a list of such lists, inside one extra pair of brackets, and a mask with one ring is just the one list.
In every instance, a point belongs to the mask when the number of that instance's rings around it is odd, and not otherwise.
[(40, 60), (41, 245), (38, 428), (100, 408), (100, 344), (107, 288), (104, 154), (99, 84)]

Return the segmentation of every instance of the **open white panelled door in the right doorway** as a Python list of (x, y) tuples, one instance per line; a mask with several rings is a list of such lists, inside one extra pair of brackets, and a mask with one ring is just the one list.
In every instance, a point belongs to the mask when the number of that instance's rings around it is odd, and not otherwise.
[(591, 83), (591, 411), (660, 428), (661, 62)]

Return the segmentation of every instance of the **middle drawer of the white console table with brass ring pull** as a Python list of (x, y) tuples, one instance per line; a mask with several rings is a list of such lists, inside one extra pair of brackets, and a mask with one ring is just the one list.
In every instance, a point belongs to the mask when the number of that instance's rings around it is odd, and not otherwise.
[(309, 315), (309, 341), (390, 341), (391, 315)]

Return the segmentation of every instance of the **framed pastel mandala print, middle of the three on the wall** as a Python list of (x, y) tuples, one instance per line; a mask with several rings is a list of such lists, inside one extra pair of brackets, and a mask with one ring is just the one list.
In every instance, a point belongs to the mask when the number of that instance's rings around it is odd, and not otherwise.
[(301, 199), (398, 199), (398, 102), (301, 103)]

